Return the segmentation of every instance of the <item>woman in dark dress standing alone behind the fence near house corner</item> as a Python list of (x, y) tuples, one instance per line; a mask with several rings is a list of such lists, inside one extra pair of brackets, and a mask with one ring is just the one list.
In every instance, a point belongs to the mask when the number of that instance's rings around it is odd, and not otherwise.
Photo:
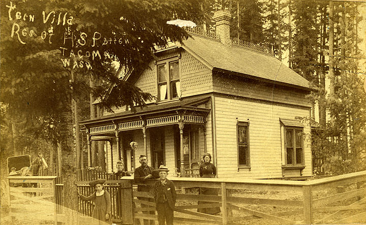
[[(209, 153), (203, 154), (203, 163), (200, 165), (199, 169), (199, 173), (202, 178), (216, 177), (216, 167), (214, 164), (211, 164), (210, 162), (211, 162), (211, 155)], [(200, 187), (199, 194), (217, 196), (218, 192), (216, 188)], [(212, 204), (212, 202), (198, 201), (198, 205), (200, 204)], [(220, 207), (201, 208), (198, 209), (197, 211), (206, 214), (217, 214), (220, 213)]]

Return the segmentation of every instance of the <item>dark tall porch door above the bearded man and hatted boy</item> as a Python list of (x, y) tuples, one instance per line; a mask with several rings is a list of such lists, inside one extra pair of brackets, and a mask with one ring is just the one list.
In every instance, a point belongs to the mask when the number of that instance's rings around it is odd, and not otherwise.
[(165, 139), (164, 128), (151, 128), (150, 131), (151, 166), (159, 169), (165, 165)]

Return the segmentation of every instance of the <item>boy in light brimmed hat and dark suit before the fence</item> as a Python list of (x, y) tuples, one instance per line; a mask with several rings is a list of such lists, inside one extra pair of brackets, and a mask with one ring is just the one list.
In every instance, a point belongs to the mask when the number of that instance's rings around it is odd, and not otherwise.
[(160, 166), (160, 180), (154, 184), (154, 199), (158, 211), (159, 225), (164, 225), (165, 221), (167, 225), (173, 225), (176, 192), (174, 183), (166, 178), (168, 172), (167, 167)]

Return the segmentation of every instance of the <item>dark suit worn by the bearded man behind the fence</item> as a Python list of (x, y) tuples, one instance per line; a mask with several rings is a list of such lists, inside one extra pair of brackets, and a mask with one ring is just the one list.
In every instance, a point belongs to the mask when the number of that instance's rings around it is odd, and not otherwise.
[[(153, 170), (154, 170), (154, 168), (149, 167), (149, 166), (146, 166), (145, 168), (140, 166), (140, 167), (135, 169), (134, 181), (135, 181), (135, 183), (137, 183), (137, 191), (145, 191), (145, 192), (151, 192), (152, 191), (152, 189), (153, 189), (152, 186), (147, 185), (147, 184), (144, 185), (144, 183), (145, 183), (144, 177), (151, 174), (153, 172)], [(147, 179), (147, 180), (150, 180), (150, 179)], [(149, 199), (149, 198), (137, 197), (137, 199), (152, 202), (151, 199)], [(141, 207), (142, 208), (148, 208), (148, 207), (151, 207), (151, 206), (141, 204)], [(143, 211), (143, 213), (148, 213), (148, 214), (155, 215), (155, 211)], [(154, 220), (144, 219), (144, 225), (155, 225), (155, 221)]]

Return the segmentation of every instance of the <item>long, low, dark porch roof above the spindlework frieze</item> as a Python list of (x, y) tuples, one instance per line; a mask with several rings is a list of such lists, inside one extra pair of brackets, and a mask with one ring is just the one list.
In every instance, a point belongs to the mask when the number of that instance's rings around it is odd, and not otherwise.
[(201, 107), (195, 107), (193, 105), (197, 105), (200, 103), (204, 103), (208, 101), (210, 97), (204, 96), (204, 97), (191, 97), (191, 98), (184, 98), (176, 101), (166, 102), (166, 103), (160, 103), (160, 104), (148, 104), (144, 108), (135, 107), (135, 112), (133, 111), (125, 111), (120, 113), (114, 113), (111, 115), (102, 116), (100, 118), (96, 119), (87, 119), (80, 121), (80, 125), (94, 125), (99, 123), (105, 123), (110, 122), (114, 120), (121, 120), (121, 119), (127, 119), (127, 118), (133, 118), (133, 117), (140, 117), (140, 116), (147, 116), (157, 113), (164, 113), (169, 111), (175, 111), (175, 110), (189, 110), (189, 111), (196, 111), (196, 112), (205, 112), (208, 113), (210, 109), (207, 108), (201, 108)]

